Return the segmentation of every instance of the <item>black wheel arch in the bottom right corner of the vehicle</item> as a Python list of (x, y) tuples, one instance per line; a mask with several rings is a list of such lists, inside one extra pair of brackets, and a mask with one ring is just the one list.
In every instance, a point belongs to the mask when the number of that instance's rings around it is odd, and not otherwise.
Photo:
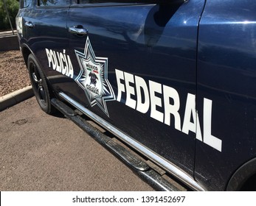
[(256, 157), (235, 171), (226, 186), (226, 191), (247, 190), (252, 182), (256, 182)]

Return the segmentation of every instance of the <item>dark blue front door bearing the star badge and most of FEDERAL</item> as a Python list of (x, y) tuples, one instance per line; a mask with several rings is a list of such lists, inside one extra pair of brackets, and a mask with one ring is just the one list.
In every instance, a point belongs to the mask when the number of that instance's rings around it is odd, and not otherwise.
[(203, 7), (204, 0), (74, 1), (67, 28), (75, 85), (60, 85), (60, 96), (103, 127), (192, 178)]

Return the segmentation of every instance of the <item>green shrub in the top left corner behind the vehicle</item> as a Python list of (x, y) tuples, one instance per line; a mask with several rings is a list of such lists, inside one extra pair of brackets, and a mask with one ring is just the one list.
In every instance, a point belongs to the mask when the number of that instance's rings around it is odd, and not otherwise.
[[(15, 17), (18, 13), (18, 1), (16, 0), (5, 0), (8, 13), (10, 15), (10, 21), (13, 28), (15, 28)], [(4, 7), (4, 0), (0, 0), (0, 30), (10, 29), (10, 23), (7, 17), (7, 13)]]

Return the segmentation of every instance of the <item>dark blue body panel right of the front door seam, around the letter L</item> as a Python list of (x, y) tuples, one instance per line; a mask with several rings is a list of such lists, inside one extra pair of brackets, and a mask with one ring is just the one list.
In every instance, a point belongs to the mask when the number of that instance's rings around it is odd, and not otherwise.
[(211, 98), (212, 134), (223, 147), (215, 152), (197, 142), (195, 177), (214, 190), (225, 190), (233, 172), (255, 157), (255, 7), (255, 1), (207, 1), (200, 21), (199, 119), (201, 100)]

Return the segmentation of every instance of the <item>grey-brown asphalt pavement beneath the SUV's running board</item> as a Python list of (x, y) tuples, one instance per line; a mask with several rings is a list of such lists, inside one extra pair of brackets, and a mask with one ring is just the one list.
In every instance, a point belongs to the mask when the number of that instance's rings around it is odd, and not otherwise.
[(153, 191), (130, 168), (35, 97), (0, 112), (0, 191)]

